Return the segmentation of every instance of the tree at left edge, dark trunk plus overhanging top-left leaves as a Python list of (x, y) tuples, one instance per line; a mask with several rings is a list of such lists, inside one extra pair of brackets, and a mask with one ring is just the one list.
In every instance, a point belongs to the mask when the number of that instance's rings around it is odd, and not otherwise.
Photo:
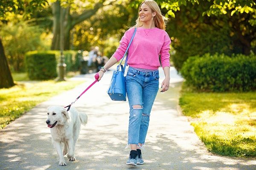
[[(41, 6), (45, 6), (47, 0), (18, 0), (18, 1), (1, 1), (0, 5), (0, 20), (3, 23), (8, 22), (6, 19), (6, 14), (25, 13), (25, 17), (29, 17), (29, 14), (32, 13), (35, 9)], [(9, 88), (14, 85), (12, 74), (6, 59), (4, 52), (2, 39), (0, 36), (0, 88)]]

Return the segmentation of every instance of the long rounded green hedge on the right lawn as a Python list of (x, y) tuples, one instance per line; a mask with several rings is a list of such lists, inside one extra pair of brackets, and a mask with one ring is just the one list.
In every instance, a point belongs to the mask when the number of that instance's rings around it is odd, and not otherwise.
[(189, 57), (181, 70), (186, 84), (204, 91), (250, 91), (256, 89), (256, 56), (205, 54)]

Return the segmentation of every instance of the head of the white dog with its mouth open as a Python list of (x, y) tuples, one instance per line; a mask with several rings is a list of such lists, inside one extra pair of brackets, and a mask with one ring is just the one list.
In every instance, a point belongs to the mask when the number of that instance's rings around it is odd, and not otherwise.
[(64, 125), (70, 119), (69, 113), (61, 106), (50, 106), (47, 111), (47, 125), (52, 128), (56, 125)]

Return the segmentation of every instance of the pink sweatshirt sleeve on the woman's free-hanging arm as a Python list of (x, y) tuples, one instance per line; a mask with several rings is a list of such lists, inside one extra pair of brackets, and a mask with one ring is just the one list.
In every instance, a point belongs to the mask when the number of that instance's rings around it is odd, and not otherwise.
[(161, 48), (160, 51), (160, 55), (161, 55), (161, 63), (162, 63), (162, 67), (170, 67), (170, 44), (171, 44), (171, 39), (169, 37), (169, 35), (166, 33), (166, 35), (164, 36), (164, 42), (163, 42), (163, 46)]

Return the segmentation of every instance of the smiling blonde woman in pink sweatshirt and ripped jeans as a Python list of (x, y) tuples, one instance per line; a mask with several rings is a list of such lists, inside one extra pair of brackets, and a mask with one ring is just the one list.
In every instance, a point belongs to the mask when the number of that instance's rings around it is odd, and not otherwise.
[[(129, 48), (126, 91), (130, 105), (128, 145), (131, 146), (126, 164), (144, 164), (140, 148), (145, 143), (149, 116), (159, 87), (161, 64), (165, 74), (161, 92), (167, 91), (170, 83), (170, 43), (165, 30), (165, 17), (154, 0), (145, 0), (139, 8), (136, 25), (125, 32), (120, 45), (109, 61), (99, 71), (99, 80), (105, 71), (119, 61), (128, 46), (135, 27), (137, 32)], [(127, 145), (127, 146), (128, 146)]]

